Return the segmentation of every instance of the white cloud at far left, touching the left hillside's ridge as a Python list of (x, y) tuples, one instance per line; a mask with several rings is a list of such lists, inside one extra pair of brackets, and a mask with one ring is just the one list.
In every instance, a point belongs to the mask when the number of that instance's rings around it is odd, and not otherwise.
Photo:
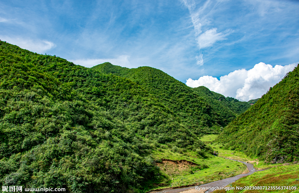
[(19, 46), (20, 48), (29, 50), (31, 52), (42, 53), (45, 51), (55, 48), (56, 45), (53, 42), (49, 42), (47, 40), (39, 40), (39, 39), (25, 39), (25, 38), (11, 38), (9, 36), (2, 36), (2, 41), (7, 41), (10, 44), (14, 44)]

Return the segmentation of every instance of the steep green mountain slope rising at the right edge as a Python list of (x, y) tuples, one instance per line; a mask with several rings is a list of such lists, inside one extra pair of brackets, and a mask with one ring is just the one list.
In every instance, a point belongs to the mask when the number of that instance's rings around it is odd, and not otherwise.
[(225, 127), (218, 141), (268, 163), (298, 161), (298, 66)]

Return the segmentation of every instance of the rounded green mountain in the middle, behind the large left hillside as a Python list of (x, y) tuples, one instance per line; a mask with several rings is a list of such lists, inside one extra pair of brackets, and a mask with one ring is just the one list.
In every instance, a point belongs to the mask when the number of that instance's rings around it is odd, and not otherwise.
[[(173, 124), (177, 122), (181, 125), (180, 127), (190, 129), (196, 135), (201, 135), (218, 133), (222, 126), (220, 121), (215, 122), (214, 117), (217, 114), (210, 108), (210, 104), (205, 99), (194, 95), (190, 87), (161, 70), (151, 67), (122, 68), (109, 62), (97, 65), (92, 69), (105, 74), (121, 76), (140, 85), (144, 89), (144, 95), (158, 101), (162, 107), (173, 114), (173, 117), (169, 117), (172, 126), (161, 125), (164, 129), (169, 128), (168, 130), (171, 130), (170, 128), (173, 128), (172, 130), (175, 131), (176, 127)], [(158, 133), (160, 133), (161, 139), (165, 139), (161, 140), (161, 143), (167, 142), (167, 138), (173, 135), (173, 133), (167, 133), (164, 136), (164, 132), (161, 131)], [(152, 136), (152, 133), (147, 134), (149, 138), (156, 138), (156, 136)], [(168, 139), (168, 141), (172, 140)]]

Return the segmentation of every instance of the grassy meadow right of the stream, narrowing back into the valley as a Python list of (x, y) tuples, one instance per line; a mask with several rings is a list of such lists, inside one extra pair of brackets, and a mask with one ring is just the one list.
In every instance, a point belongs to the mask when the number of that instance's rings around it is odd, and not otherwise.
[[(206, 135), (200, 139), (203, 139), (202, 141), (206, 142), (206, 139), (213, 139), (213, 137), (215, 137), (215, 135)], [(214, 151), (217, 151), (219, 153), (219, 157), (252, 163), (254, 167), (258, 170), (266, 169), (264, 171), (257, 171), (254, 174), (251, 174), (250, 176), (242, 177), (236, 182), (230, 184), (229, 186), (235, 187), (235, 190), (217, 190), (215, 191), (215, 193), (299, 192), (299, 164), (266, 164), (264, 161), (258, 160), (257, 157), (248, 157), (243, 152), (224, 149), (223, 145), (213, 142), (209, 142), (207, 144), (210, 145)], [(296, 190), (237, 190), (236, 186), (296, 186)]]

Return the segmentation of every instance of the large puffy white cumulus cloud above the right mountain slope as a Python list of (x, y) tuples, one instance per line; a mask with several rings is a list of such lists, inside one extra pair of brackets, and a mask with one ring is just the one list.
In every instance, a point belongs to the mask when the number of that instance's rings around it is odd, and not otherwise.
[(220, 80), (213, 76), (202, 76), (198, 80), (189, 78), (186, 85), (190, 87), (205, 86), (211, 91), (223, 94), (226, 97), (234, 97), (241, 101), (260, 98), (277, 84), (289, 71), (292, 71), (298, 63), (285, 66), (265, 64), (260, 62), (250, 70), (240, 69), (221, 76)]

